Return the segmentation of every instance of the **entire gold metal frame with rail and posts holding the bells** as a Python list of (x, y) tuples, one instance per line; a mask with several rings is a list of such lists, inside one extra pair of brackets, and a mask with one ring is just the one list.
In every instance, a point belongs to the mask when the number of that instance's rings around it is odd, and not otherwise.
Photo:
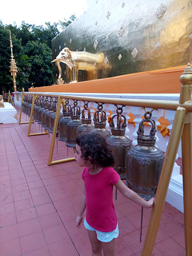
[[(53, 129), (53, 137), (50, 148), (49, 162), (48, 164), (55, 164), (61, 162), (72, 161), (74, 158), (61, 159), (52, 161), (54, 141), (56, 136), (56, 130), (58, 125), (58, 118), (60, 112), (60, 105), (62, 100), (77, 99), (91, 102), (102, 102), (109, 104), (121, 104), (130, 106), (141, 106), (152, 109), (164, 109), (176, 111), (175, 119), (173, 122), (172, 133), (169, 138), (165, 160), (161, 170), (161, 176), (158, 184), (156, 198), (154, 201), (154, 207), (150, 222), (148, 224), (146, 237), (142, 249), (141, 256), (152, 255), (153, 247), (155, 244), (157, 231), (161, 219), (163, 205), (165, 202), (166, 193), (168, 190), (168, 184), (172, 175), (176, 154), (179, 147), (180, 139), (182, 140), (182, 166), (183, 166), (183, 200), (184, 200), (184, 227), (185, 227), (185, 249), (186, 256), (192, 255), (192, 135), (191, 135), (191, 90), (192, 90), (192, 69), (188, 63), (187, 68), (180, 77), (181, 93), (179, 101), (167, 101), (167, 100), (146, 100), (146, 99), (117, 99), (117, 98), (102, 98), (102, 97), (83, 97), (83, 96), (71, 96), (61, 94), (43, 94), (43, 93), (26, 93), (35, 95), (45, 95), (58, 97), (57, 111), (55, 116), (55, 123)], [(34, 100), (33, 100), (34, 105)], [(32, 116), (31, 110), (31, 116)], [(31, 117), (30, 117), (31, 120)]]

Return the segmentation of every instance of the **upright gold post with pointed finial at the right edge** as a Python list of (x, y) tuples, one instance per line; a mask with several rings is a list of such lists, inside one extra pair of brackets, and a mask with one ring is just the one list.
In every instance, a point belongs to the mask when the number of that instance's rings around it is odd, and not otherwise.
[[(192, 69), (188, 63), (180, 77), (181, 93), (179, 102), (191, 100)], [(191, 113), (186, 114), (182, 134), (183, 202), (186, 256), (192, 255), (192, 136)]]

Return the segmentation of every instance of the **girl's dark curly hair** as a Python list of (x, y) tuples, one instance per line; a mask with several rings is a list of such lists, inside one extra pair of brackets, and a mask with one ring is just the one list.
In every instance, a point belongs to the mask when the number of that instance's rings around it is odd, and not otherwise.
[(97, 133), (81, 133), (76, 139), (81, 154), (87, 162), (91, 158), (94, 166), (113, 166), (115, 157), (105, 138)]

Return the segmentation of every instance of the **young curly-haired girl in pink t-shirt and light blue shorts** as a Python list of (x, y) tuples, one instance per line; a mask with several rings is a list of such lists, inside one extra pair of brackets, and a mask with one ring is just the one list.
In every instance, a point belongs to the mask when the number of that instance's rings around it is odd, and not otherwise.
[(114, 156), (105, 139), (95, 133), (80, 134), (76, 139), (75, 158), (79, 166), (84, 166), (81, 174), (84, 187), (76, 225), (82, 224), (86, 209), (84, 226), (92, 246), (92, 256), (115, 256), (114, 238), (118, 237), (118, 223), (113, 204), (113, 186), (120, 193), (137, 204), (152, 207), (154, 198), (145, 201), (133, 190), (124, 185), (114, 165)]

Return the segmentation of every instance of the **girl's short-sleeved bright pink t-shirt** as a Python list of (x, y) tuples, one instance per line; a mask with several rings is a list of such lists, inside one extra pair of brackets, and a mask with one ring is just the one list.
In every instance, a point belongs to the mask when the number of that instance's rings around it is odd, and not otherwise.
[(113, 204), (113, 185), (120, 179), (112, 167), (104, 167), (98, 174), (89, 173), (85, 167), (82, 179), (86, 188), (86, 220), (90, 226), (102, 231), (113, 231), (117, 216)]

